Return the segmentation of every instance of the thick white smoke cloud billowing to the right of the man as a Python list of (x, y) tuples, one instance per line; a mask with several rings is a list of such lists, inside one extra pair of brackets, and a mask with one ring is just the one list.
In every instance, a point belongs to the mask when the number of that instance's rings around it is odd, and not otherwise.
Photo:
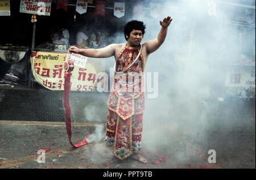
[[(240, 100), (226, 99), (225, 74), (234, 60), (250, 58), (249, 54), (255, 60), (255, 27), (222, 22), (221, 19), (230, 18), (232, 9), (226, 14), (220, 13), (223, 7), (216, 5), (212, 10), (209, 2), (161, 1), (163, 9), (157, 18), (137, 19), (146, 24), (142, 44), (158, 36), (159, 20), (168, 15), (173, 19), (166, 40), (147, 59), (145, 73), (158, 72), (158, 96), (151, 99), (145, 93), (142, 144), (151, 152), (159, 147), (166, 153), (176, 150), (180, 161), (193, 154), (175, 149), (175, 145), (180, 145), (173, 136), (175, 133), (189, 135), (191, 142), (205, 143), (211, 140), (210, 132), (216, 129), (225, 136), (229, 130), (251, 128), (250, 122), (236, 120), (245, 117), (243, 112), (247, 112), (248, 107)], [(124, 43), (123, 32), (109, 37), (109, 41)], [(106, 58), (106, 65), (113, 68), (114, 58)], [(220, 99), (224, 101), (218, 101)], [(234, 107), (240, 107), (241, 114), (234, 115)], [(255, 119), (255, 112), (250, 116)], [(208, 152), (209, 149), (201, 150)]]

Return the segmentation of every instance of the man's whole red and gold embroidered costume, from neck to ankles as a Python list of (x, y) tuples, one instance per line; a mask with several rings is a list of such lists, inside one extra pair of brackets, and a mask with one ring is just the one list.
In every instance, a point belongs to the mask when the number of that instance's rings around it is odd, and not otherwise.
[[(138, 56), (139, 47), (125, 46), (118, 55), (116, 72), (126, 70)], [(143, 56), (123, 73), (115, 73), (108, 105), (105, 146), (114, 148), (121, 160), (141, 150), (144, 112)]]

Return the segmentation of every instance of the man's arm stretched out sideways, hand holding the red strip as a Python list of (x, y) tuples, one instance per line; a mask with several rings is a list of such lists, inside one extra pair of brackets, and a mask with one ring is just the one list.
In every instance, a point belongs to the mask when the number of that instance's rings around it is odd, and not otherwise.
[(72, 46), (69, 48), (69, 51), (86, 57), (106, 58), (114, 56), (115, 46), (116, 44), (110, 44), (100, 49), (79, 49), (75, 46)]

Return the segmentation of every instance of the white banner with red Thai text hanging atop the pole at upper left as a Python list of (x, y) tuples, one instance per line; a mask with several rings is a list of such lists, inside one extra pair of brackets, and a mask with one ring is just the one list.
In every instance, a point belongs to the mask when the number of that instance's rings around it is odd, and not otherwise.
[(19, 12), (51, 15), (52, 0), (20, 0)]

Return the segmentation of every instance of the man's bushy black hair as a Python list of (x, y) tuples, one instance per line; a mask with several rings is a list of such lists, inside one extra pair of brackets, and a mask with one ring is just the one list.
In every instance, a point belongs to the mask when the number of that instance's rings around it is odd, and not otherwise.
[[(131, 20), (125, 25), (124, 29), (124, 34), (130, 37), (130, 32), (133, 30), (140, 30), (142, 31), (142, 35), (145, 33), (146, 26), (143, 24), (142, 21), (138, 20)], [(127, 37), (125, 36), (126, 41), (128, 40)]]

